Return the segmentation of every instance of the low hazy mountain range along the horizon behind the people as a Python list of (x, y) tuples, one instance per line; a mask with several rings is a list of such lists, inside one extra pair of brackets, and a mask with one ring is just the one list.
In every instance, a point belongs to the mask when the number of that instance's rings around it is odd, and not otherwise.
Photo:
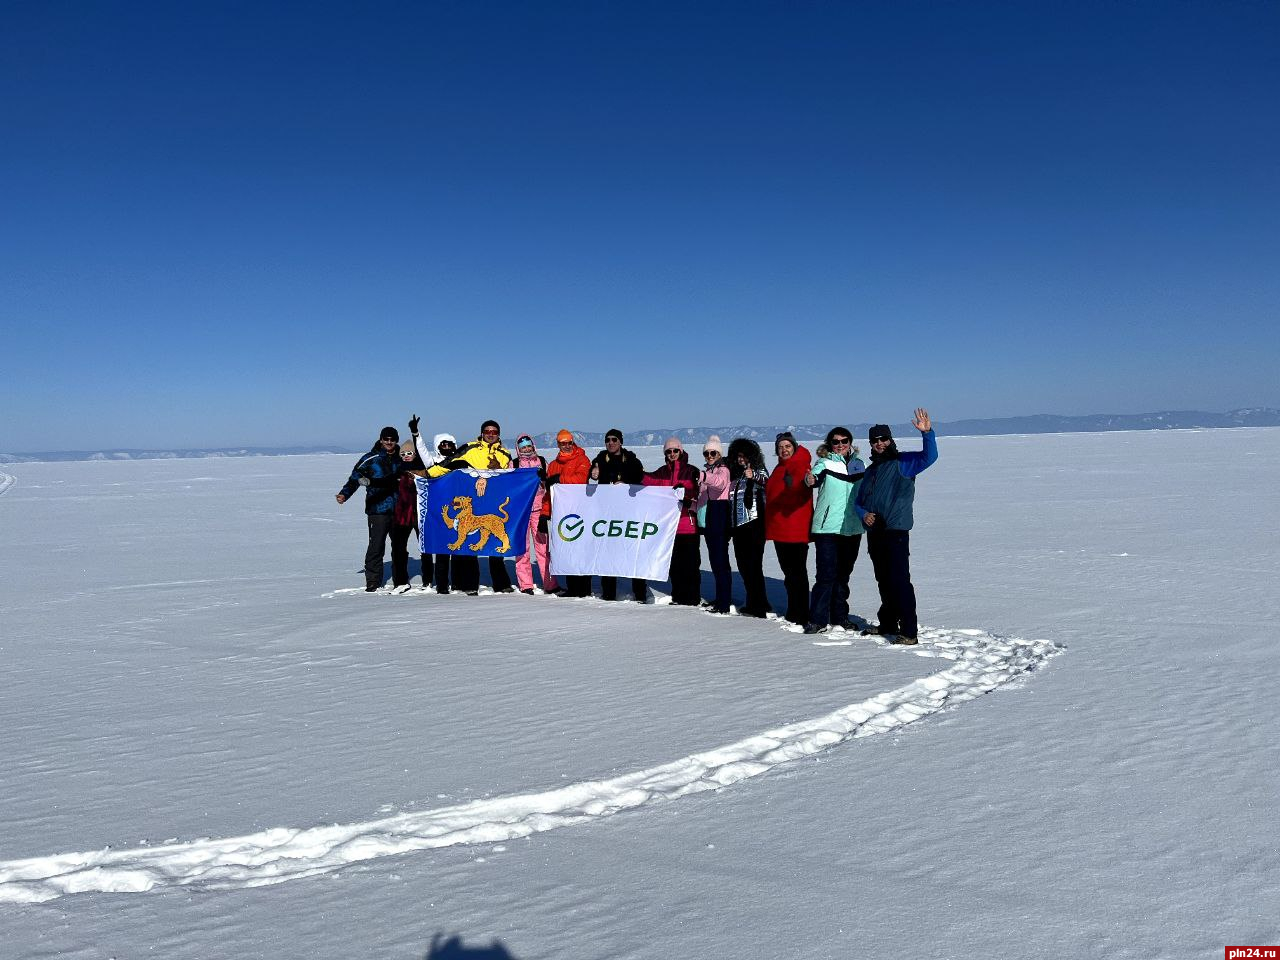
[[(783, 430), (790, 430), (797, 440), (820, 440), (833, 424), (778, 424), (773, 426), (678, 426), (672, 429), (625, 430), (627, 447), (657, 447), (668, 436), (678, 436), (689, 445), (703, 443), (717, 434), (726, 445), (735, 436), (750, 436), (764, 447)], [(867, 436), (870, 424), (841, 424), (847, 426), (855, 438)], [(891, 424), (897, 436), (909, 436), (910, 424)], [(1001, 417), (996, 420), (951, 420), (934, 421), (934, 429), (941, 436), (998, 436), (1007, 434), (1074, 434), (1107, 433), (1114, 430), (1196, 430), (1224, 426), (1280, 426), (1280, 410), (1275, 407), (1244, 407), (1226, 413), (1206, 413), (1198, 410), (1174, 410), (1160, 413), (1091, 413), (1085, 416), (1059, 416), (1056, 413), (1037, 413), (1025, 417)], [(584, 447), (603, 447), (604, 433), (576, 431), (573, 434)], [(515, 438), (506, 438), (508, 445)], [(544, 451), (556, 445), (556, 431), (534, 436)], [(35, 461), (84, 461), (84, 460), (191, 460), (201, 457), (279, 457), (311, 453), (362, 453), (367, 447), (353, 448), (340, 445), (328, 447), (218, 447), (209, 449), (119, 449), (100, 451), (61, 451), (44, 453), (0, 453), (0, 463), (28, 463)]]

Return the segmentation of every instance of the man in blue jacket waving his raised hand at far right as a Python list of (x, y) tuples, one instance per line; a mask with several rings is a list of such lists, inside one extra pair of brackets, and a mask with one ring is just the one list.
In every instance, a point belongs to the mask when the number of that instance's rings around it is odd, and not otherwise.
[(900, 453), (893, 434), (877, 424), (867, 439), (872, 465), (863, 476), (854, 509), (867, 527), (867, 553), (879, 588), (879, 626), (874, 631), (895, 644), (916, 643), (915, 588), (911, 585), (910, 531), (914, 524), (915, 477), (938, 458), (938, 440), (924, 407), (915, 408), (913, 426), (920, 431), (924, 449)]

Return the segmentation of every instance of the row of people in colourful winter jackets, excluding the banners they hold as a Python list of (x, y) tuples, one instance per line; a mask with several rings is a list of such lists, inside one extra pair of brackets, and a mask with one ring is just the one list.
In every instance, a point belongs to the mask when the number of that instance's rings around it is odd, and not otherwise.
[[(732, 596), (730, 547), (737, 563), (746, 600), (739, 613), (765, 617), (771, 611), (764, 585), (764, 549), (772, 541), (782, 568), (788, 621), (806, 634), (836, 626), (863, 628), (892, 643), (915, 644), (918, 625), (915, 588), (910, 572), (910, 530), (914, 524), (915, 477), (938, 458), (929, 413), (916, 408), (913, 425), (920, 431), (920, 451), (899, 451), (884, 424), (868, 431), (870, 465), (859, 457), (852, 433), (833, 428), (810, 452), (791, 433), (773, 444), (777, 463), (771, 471), (760, 445), (749, 438), (732, 440), (726, 453), (719, 436), (703, 445), (703, 468), (672, 436), (663, 444), (663, 463), (646, 471), (635, 453), (622, 445), (621, 430), (604, 435), (604, 449), (589, 458), (570, 430), (556, 436), (557, 454), (539, 454), (532, 436), (521, 434), (512, 454), (502, 443), (495, 420), (480, 426), (475, 440), (458, 447), (452, 434), (436, 434), (428, 449), (419, 435), (420, 419), (410, 422), (411, 439), (401, 444), (394, 426), (383, 428), (378, 443), (362, 456), (338, 492), (338, 503), (366, 488), (369, 549), (365, 553), (365, 589), (383, 586), (383, 556), (392, 541), (392, 584), (407, 588), (408, 539), (417, 530), (416, 477), (439, 477), (451, 470), (536, 470), (539, 485), (529, 516), (527, 549), (516, 559), (521, 593), (534, 593), (538, 566), (545, 593), (589, 596), (590, 576), (566, 576), (561, 585), (549, 568), (548, 526), (552, 488), (556, 484), (644, 484), (682, 490), (680, 522), (671, 554), (671, 602), (703, 605), (728, 614)], [(867, 535), (881, 605), (874, 627), (855, 623), (849, 612), (849, 580)], [(701, 598), (701, 543), (714, 580), (714, 595)], [(817, 554), (814, 581), (809, 582), (809, 545)], [(497, 593), (513, 593), (507, 566), (489, 558), (489, 577)], [(436, 593), (451, 590), (475, 595), (480, 589), (476, 557), (422, 556), (422, 585)], [(631, 581), (632, 596), (644, 603), (648, 584)], [(617, 579), (600, 577), (600, 595), (616, 600)]]

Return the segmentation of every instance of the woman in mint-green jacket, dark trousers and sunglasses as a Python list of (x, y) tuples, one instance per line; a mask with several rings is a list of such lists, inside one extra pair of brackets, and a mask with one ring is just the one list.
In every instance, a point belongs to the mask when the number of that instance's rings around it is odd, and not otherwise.
[(827, 433), (824, 453), (805, 474), (805, 486), (818, 490), (812, 534), (818, 568), (809, 595), (809, 622), (804, 632), (818, 634), (829, 625), (856, 630), (849, 620), (849, 577), (863, 543), (863, 520), (854, 498), (865, 466), (858, 458), (852, 433), (836, 426)]

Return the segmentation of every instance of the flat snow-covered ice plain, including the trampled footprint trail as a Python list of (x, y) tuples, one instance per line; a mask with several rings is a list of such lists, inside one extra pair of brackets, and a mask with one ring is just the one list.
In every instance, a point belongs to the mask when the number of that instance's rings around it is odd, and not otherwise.
[(349, 457), (6, 465), (0, 955), (1275, 943), (1280, 430), (941, 443), (919, 648), (366, 595)]

